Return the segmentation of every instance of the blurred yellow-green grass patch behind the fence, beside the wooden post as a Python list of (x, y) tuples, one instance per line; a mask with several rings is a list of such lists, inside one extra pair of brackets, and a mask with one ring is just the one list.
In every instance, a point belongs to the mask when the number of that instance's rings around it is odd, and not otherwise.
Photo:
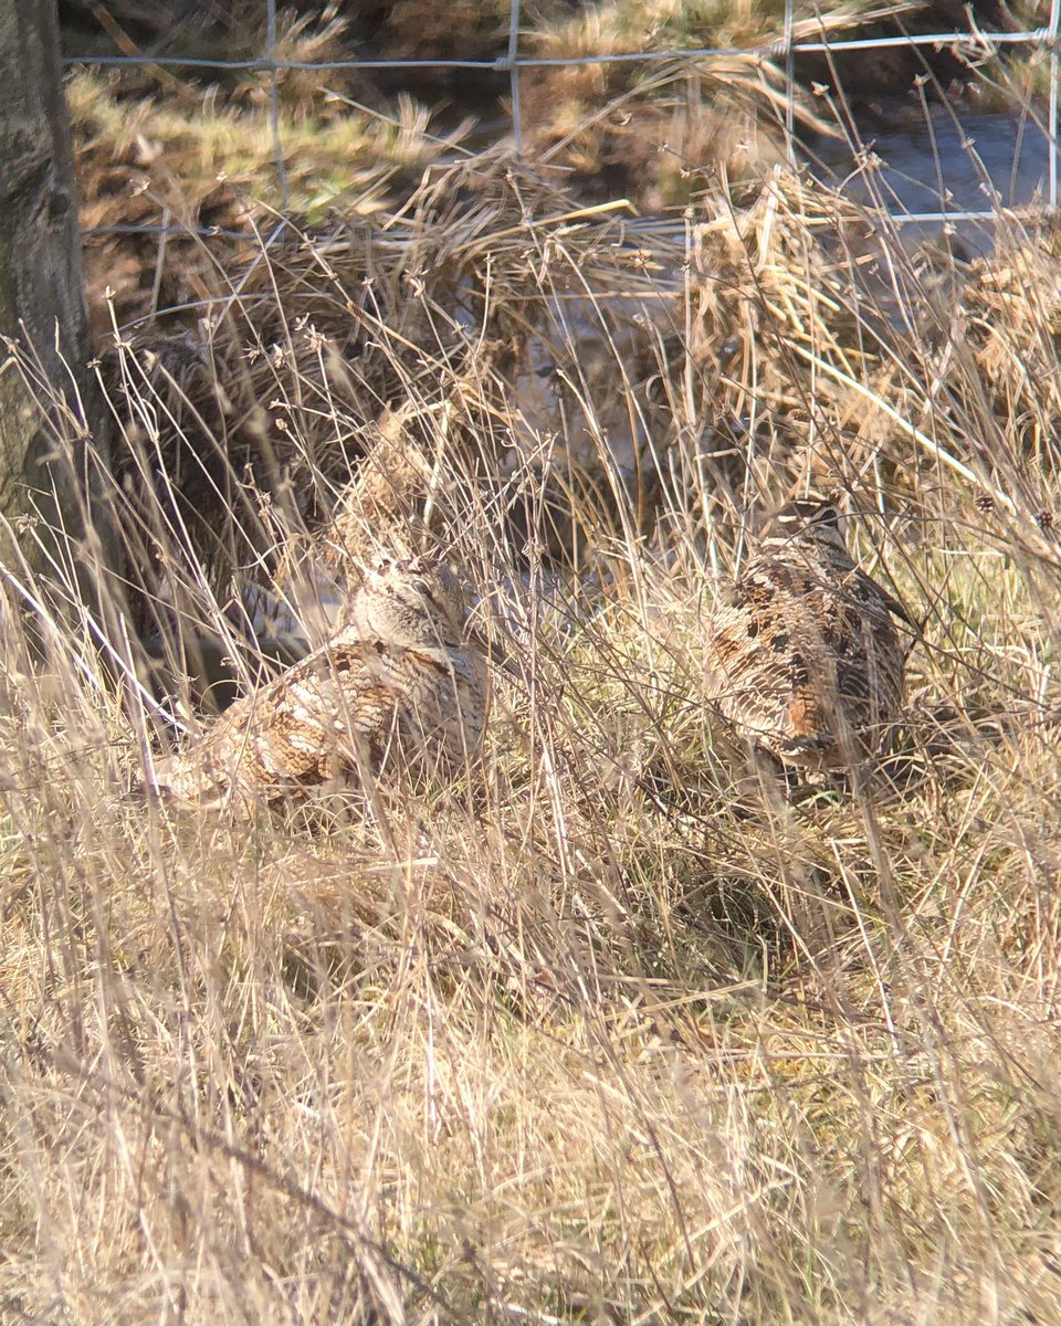
[(439, 130), (408, 97), (374, 110), (320, 93), (316, 113), (284, 106), (273, 126), (260, 99), (221, 98), (216, 89), (204, 98), (179, 85), (164, 97), (130, 97), (121, 82), (82, 70), (66, 85), (81, 223), (98, 231), (86, 245), (86, 277), (99, 333), (107, 297), (122, 324), (198, 309), (216, 288), (225, 249), (215, 239), (208, 252), (196, 232), (225, 236), (231, 257), (273, 229), (284, 203), (279, 155), (288, 207), (302, 224), (337, 211), (351, 224), (379, 223), (432, 163), (460, 152), (469, 123)]

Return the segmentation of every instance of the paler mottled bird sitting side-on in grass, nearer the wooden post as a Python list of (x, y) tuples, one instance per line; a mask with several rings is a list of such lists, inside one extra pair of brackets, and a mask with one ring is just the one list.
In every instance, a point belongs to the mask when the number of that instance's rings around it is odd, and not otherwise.
[(456, 575), (427, 558), (371, 570), (349, 625), (237, 700), (156, 769), (176, 805), (275, 801), (395, 764), (447, 772), (480, 749), (488, 682)]

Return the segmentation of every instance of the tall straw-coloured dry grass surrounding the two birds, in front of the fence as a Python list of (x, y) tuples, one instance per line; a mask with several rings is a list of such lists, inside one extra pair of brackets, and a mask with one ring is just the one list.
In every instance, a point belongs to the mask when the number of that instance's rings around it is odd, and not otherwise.
[[(1052, 243), (942, 301), (780, 174), (666, 241), (484, 158), (114, 349), (154, 671), (7, 569), (12, 1321), (1058, 1317)], [(924, 621), (859, 796), (759, 785), (700, 701), (719, 579), (808, 485)], [(191, 724), (190, 638), (245, 683), (340, 545), (402, 541), (519, 643), (484, 776), (243, 825), (129, 793), (168, 733), (121, 660)]]

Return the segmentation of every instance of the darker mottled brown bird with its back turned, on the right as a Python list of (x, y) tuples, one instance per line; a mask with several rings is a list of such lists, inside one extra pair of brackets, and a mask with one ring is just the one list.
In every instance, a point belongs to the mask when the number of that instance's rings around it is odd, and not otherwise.
[(792, 503), (714, 617), (707, 691), (753, 745), (809, 769), (875, 753), (905, 696), (902, 605), (861, 570), (832, 503)]

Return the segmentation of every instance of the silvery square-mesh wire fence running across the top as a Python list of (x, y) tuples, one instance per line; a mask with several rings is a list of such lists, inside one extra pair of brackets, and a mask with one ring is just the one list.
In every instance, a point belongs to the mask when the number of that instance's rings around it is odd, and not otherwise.
[[(785, 137), (786, 137), (786, 152), (790, 162), (798, 159), (798, 145), (796, 137), (796, 103), (797, 103), (797, 84), (796, 84), (796, 60), (801, 54), (825, 54), (837, 56), (845, 52), (874, 52), (885, 50), (890, 48), (907, 48), (907, 49), (951, 49), (955, 52), (967, 50), (973, 53), (979, 58), (989, 58), (999, 53), (1003, 48), (1020, 48), (1027, 46), (1030, 52), (1046, 52), (1049, 60), (1049, 90), (1048, 90), (1048, 105), (1045, 117), (1045, 142), (1046, 142), (1046, 196), (1045, 204), (1040, 204), (1040, 210), (1045, 206), (1046, 211), (1054, 212), (1058, 207), (1058, 89), (1061, 89), (1061, 0), (1050, 0), (1050, 15), (1049, 23), (1045, 27), (1029, 28), (1021, 32), (985, 32), (980, 28), (972, 25), (968, 29), (951, 29), (947, 32), (935, 33), (916, 33), (916, 34), (903, 34), (891, 37), (857, 37), (857, 38), (837, 38), (829, 40), (822, 37), (822, 40), (796, 40), (796, 0), (785, 0), (785, 16), (782, 27), (782, 37), (780, 41), (769, 44), (767, 46), (757, 48), (740, 48), (740, 46), (702, 46), (702, 48), (682, 48), (682, 49), (660, 49), (660, 50), (638, 50), (638, 52), (622, 52), (622, 53), (601, 53), (601, 54), (588, 54), (588, 56), (533, 56), (523, 54), (520, 52), (520, 20), (521, 8), (520, 0), (512, 0), (509, 30), (508, 30), (508, 49), (503, 56), (497, 56), (493, 60), (455, 60), (455, 58), (431, 58), (431, 60), (318, 60), (318, 61), (301, 61), (301, 60), (285, 60), (279, 54), (279, 41), (277, 41), (277, 0), (267, 0), (267, 20), (264, 41), (264, 53), (252, 60), (224, 60), (224, 58), (202, 58), (202, 57), (183, 57), (183, 56), (134, 56), (134, 54), (119, 54), (119, 56), (72, 56), (64, 60), (66, 66), (73, 65), (89, 65), (89, 66), (156, 66), (163, 69), (216, 69), (219, 72), (247, 72), (247, 73), (261, 73), (268, 80), (268, 98), (269, 98), (269, 125), (272, 134), (272, 151), (275, 159), (275, 170), (277, 179), (277, 190), (281, 200), (281, 210), (288, 211), (290, 204), (290, 190), (288, 186), (288, 172), (285, 166), (285, 147), (282, 135), (282, 123), (280, 115), (280, 80), (279, 74), (282, 70), (302, 70), (312, 72), (317, 70), (321, 74), (330, 70), (365, 70), (365, 72), (393, 72), (393, 70), (468, 70), (480, 73), (503, 73), (509, 77), (509, 94), (511, 94), (511, 121), (512, 121), (512, 138), (517, 152), (523, 152), (527, 145), (527, 125), (524, 119), (524, 111), (520, 97), (520, 76), (523, 70), (536, 69), (536, 68), (560, 68), (560, 66), (593, 66), (593, 65), (660, 65), (663, 62), (682, 61), (686, 65), (695, 64), (696, 61), (707, 61), (720, 57), (733, 57), (733, 56), (752, 56), (760, 58), (769, 58), (780, 68), (784, 68), (785, 73)], [(969, 11), (971, 12), (971, 11)], [(944, 190), (940, 187), (940, 194)], [(889, 208), (890, 219), (894, 224), (903, 225), (907, 223), (958, 223), (958, 221), (972, 221), (972, 223), (987, 223), (996, 217), (997, 206), (985, 207), (980, 210), (975, 208), (955, 208), (943, 206), (944, 199), (940, 198), (940, 207), (936, 210), (926, 211), (912, 211), (899, 207)], [(1032, 207), (1027, 208), (1032, 211)], [(282, 224), (282, 223), (281, 223)], [(178, 225), (110, 225), (110, 227), (88, 227), (85, 229), (86, 235), (166, 235), (166, 233), (188, 233), (187, 227)], [(216, 227), (203, 227), (196, 231), (196, 233), (203, 236), (218, 236), (224, 235), (229, 237), (244, 237), (243, 232), (221, 231)]]

